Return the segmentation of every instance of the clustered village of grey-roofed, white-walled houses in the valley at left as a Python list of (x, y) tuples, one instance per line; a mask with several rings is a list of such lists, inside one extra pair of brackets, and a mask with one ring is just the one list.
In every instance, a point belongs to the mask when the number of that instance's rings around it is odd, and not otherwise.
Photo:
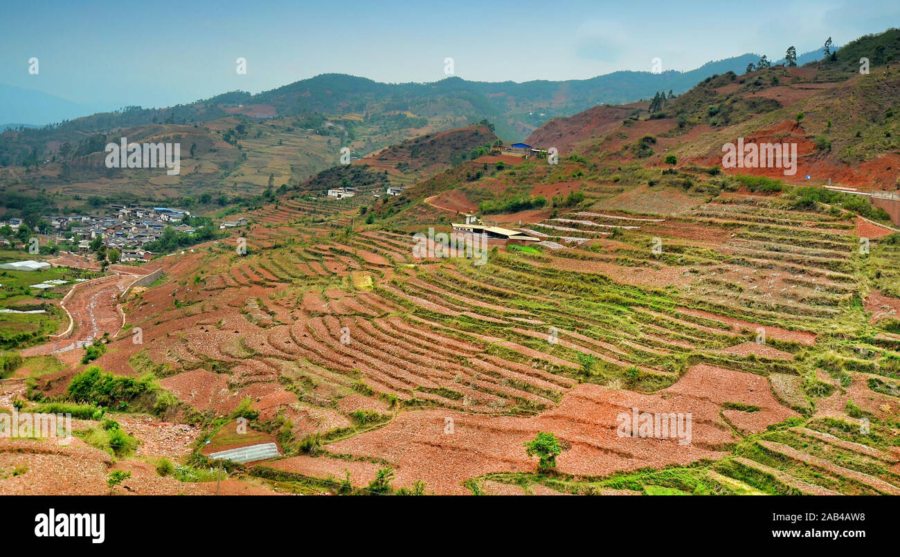
[[(186, 224), (190, 211), (180, 211), (168, 207), (139, 207), (138, 205), (110, 205), (103, 215), (43, 216), (49, 228), (40, 230), (39, 237), (55, 244), (69, 244), (78, 252), (91, 249), (95, 238), (102, 238), (108, 249), (117, 249), (121, 261), (147, 261), (154, 255), (146, 246), (162, 237), (166, 227), (175, 232), (193, 234), (203, 226)], [(187, 219), (185, 219), (187, 217)], [(232, 229), (247, 225), (247, 219), (223, 220), (219, 229)], [(14, 232), (23, 226), (22, 219), (0, 220), (0, 229), (9, 226)], [(0, 238), (0, 245), (8, 246), (9, 240)], [(73, 249), (74, 251), (75, 249)]]

